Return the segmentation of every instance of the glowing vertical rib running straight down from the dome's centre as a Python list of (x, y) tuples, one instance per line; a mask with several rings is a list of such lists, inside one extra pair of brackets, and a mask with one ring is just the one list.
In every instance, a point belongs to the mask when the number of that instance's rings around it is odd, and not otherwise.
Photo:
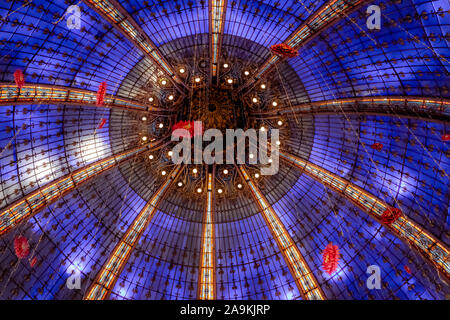
[(207, 174), (206, 205), (203, 214), (202, 248), (200, 255), (200, 272), (198, 294), (200, 300), (216, 299), (215, 270), (215, 230), (214, 230), (214, 193), (215, 168)]

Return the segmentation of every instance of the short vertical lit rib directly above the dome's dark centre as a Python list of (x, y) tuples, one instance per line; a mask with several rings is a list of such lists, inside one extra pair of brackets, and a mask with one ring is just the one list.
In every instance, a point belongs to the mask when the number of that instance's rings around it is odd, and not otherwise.
[(210, 83), (219, 81), (220, 56), (225, 25), (227, 0), (209, 0)]

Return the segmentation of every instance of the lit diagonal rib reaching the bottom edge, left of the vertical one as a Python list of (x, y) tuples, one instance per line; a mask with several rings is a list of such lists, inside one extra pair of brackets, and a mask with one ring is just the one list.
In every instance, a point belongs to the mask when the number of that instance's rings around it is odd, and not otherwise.
[(131, 253), (133, 252), (133, 249), (152, 220), (159, 203), (164, 198), (167, 190), (177, 179), (181, 171), (182, 166), (175, 167), (167, 180), (161, 185), (158, 191), (156, 191), (150, 201), (141, 210), (136, 219), (134, 219), (131, 223), (127, 232), (116, 245), (108, 261), (102, 267), (86, 293), (84, 297), (85, 300), (108, 299), (112, 289), (114, 289), (117, 278), (122, 273)]

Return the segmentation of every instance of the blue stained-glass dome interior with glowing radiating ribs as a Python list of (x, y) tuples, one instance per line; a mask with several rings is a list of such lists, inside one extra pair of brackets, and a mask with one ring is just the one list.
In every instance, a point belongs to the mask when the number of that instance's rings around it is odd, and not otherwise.
[[(0, 1), (0, 299), (450, 299), (449, 15)], [(180, 121), (279, 129), (279, 171), (174, 164)]]

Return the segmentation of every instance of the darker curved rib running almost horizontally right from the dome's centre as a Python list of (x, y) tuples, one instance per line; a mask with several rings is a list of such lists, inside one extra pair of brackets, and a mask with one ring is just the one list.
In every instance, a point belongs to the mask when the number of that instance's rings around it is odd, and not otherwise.
[[(276, 119), (280, 116), (310, 114), (392, 114), (400, 117), (424, 117), (428, 121), (450, 120), (450, 100), (433, 97), (358, 97), (319, 102), (302, 103), (296, 106), (251, 113), (255, 119)], [(417, 115), (417, 116), (414, 116)]]

